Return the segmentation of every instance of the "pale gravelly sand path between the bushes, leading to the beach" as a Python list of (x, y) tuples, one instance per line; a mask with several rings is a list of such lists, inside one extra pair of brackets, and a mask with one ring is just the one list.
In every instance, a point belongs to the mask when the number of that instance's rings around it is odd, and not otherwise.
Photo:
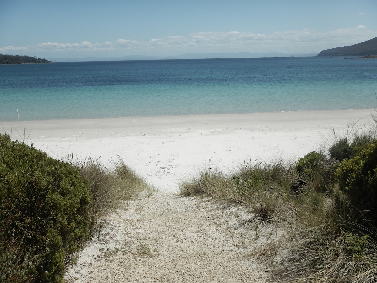
[(157, 192), (109, 216), (66, 278), (75, 282), (267, 282), (248, 257), (242, 208)]

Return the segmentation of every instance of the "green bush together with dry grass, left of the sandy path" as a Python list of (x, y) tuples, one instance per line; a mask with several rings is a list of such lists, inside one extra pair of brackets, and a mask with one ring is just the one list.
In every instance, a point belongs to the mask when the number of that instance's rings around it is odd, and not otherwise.
[(106, 214), (147, 188), (121, 159), (62, 162), (0, 134), (0, 281), (62, 282)]

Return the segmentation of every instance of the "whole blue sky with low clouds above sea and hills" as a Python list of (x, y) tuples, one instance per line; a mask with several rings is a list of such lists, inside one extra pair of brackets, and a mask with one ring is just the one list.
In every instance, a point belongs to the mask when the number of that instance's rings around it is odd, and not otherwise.
[(376, 0), (1, 0), (0, 53), (37, 58), (321, 50), (377, 37)]

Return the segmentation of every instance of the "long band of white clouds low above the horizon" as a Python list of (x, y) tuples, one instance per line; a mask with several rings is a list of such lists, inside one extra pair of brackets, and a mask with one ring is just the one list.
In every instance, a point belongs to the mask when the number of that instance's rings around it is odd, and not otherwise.
[[(5, 46), (2, 54), (27, 54), (37, 57), (117, 57), (126, 55), (169, 56), (207, 52), (310, 53), (353, 45), (377, 36), (377, 31), (359, 25), (327, 32), (314, 29), (288, 30), (273, 34), (252, 32), (196, 32), (187, 36), (151, 38), (147, 42), (118, 39), (103, 43), (45, 42), (27, 46)], [(22, 54), (21, 54), (22, 53)]]

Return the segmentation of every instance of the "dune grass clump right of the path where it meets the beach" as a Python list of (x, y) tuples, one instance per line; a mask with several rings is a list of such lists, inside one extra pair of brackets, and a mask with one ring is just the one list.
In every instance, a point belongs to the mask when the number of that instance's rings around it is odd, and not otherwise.
[(254, 211), (254, 219), (273, 220), (276, 207), (286, 192), (282, 188), (290, 183), (289, 165), (283, 160), (246, 163), (229, 174), (216, 169), (203, 169), (197, 177), (181, 182), (184, 196), (210, 196), (228, 203), (247, 205)]

